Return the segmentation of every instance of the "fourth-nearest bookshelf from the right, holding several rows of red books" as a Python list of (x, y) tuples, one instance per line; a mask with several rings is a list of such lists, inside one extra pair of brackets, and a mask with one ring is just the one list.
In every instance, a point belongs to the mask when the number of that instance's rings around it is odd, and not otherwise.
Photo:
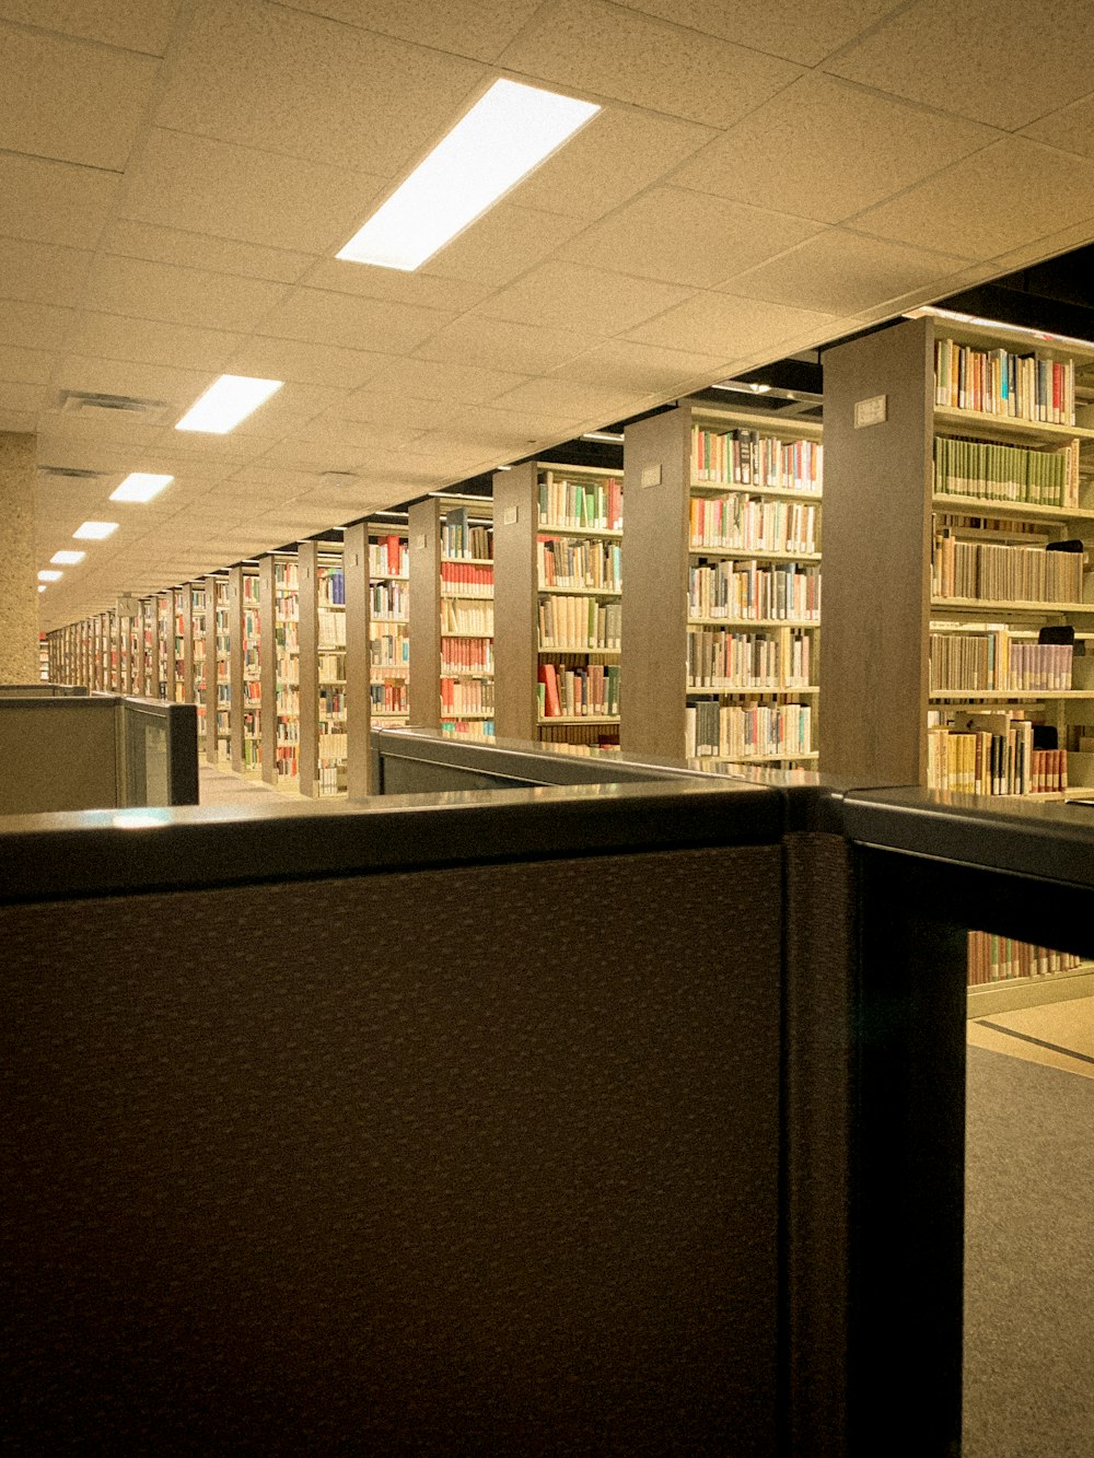
[(489, 497), (426, 497), (408, 512), (410, 720), (494, 732), (493, 513)]

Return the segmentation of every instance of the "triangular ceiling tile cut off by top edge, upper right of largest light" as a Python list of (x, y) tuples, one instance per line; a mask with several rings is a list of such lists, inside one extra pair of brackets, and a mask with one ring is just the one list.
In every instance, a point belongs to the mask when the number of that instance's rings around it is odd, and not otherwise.
[(903, 3), (906, 0), (824, 0), (817, 6), (801, 0), (620, 0), (629, 10), (674, 20), (802, 66), (817, 66)]

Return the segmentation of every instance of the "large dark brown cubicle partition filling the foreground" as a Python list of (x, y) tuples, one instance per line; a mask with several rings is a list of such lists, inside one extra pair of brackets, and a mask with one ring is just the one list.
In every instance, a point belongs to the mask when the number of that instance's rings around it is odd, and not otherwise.
[(1093, 949), (1088, 814), (6, 819), (9, 1442), (957, 1452), (963, 929)]

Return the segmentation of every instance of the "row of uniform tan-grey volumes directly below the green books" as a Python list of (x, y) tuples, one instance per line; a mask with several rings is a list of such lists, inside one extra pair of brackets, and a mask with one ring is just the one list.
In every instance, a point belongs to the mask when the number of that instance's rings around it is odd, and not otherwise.
[(931, 590), (936, 598), (986, 602), (1081, 602), (1081, 551), (964, 541), (935, 532)]

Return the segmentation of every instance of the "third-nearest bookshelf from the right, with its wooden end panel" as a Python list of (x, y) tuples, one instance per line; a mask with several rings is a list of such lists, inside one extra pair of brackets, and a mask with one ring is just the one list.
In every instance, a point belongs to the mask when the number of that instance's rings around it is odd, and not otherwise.
[(525, 461), (493, 491), (497, 733), (618, 745), (621, 472)]

